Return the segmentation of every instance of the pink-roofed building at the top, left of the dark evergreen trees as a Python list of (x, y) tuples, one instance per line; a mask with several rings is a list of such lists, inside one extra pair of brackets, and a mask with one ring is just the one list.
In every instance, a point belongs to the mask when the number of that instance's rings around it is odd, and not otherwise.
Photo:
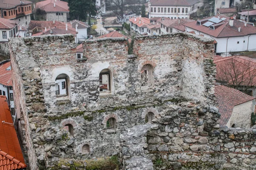
[(67, 22), (70, 17), (67, 2), (61, 0), (44, 0), (35, 4), (35, 10), (37, 8), (46, 11), (47, 21)]

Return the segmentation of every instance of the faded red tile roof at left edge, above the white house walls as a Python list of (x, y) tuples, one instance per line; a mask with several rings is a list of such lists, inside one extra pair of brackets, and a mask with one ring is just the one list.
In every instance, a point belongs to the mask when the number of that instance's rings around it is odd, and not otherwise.
[[(3, 63), (3, 64), (1, 64)], [(12, 86), (12, 70), (6, 70), (11, 67), (11, 62), (0, 62), (0, 84)]]

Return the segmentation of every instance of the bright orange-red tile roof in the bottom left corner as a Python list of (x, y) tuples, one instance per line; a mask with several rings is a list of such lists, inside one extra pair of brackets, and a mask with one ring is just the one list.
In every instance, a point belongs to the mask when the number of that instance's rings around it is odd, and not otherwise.
[(0, 170), (26, 168), (15, 127), (11, 124), (12, 115), (6, 96), (0, 96)]

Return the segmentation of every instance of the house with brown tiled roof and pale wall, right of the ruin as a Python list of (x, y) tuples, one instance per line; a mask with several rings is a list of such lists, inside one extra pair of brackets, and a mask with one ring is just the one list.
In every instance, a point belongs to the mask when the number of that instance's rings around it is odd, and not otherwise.
[(250, 128), (255, 97), (224, 85), (215, 86), (215, 96), (221, 113), (221, 126)]

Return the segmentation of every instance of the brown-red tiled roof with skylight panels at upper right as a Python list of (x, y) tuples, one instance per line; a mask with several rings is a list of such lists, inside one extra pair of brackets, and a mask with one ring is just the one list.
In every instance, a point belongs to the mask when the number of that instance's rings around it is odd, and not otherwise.
[[(256, 34), (256, 27), (245, 24), (239, 20), (233, 20), (233, 26), (229, 24), (230, 17), (217, 15), (203, 20), (186, 23), (184, 26), (195, 29), (212, 37), (239, 37), (248, 34)], [(200, 24), (201, 23), (201, 24)], [(239, 31), (239, 27), (241, 28)]]

